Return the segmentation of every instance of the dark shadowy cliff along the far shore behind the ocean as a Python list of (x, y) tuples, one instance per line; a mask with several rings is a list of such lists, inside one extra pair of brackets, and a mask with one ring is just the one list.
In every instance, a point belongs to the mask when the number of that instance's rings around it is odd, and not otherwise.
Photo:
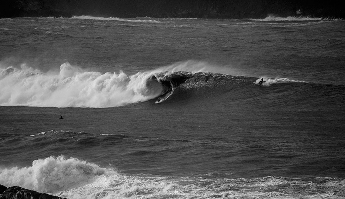
[(340, 0), (2, 0), (0, 18), (23, 16), (265, 18), (303, 16), (345, 18)]

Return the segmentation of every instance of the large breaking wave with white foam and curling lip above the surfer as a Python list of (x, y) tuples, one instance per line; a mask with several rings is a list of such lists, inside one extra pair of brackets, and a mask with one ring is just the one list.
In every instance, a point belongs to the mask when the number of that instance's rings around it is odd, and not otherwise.
[[(192, 72), (182, 71), (186, 67)], [(62, 64), (59, 73), (10, 66), (0, 71), (0, 106), (118, 107), (170, 96), (178, 86), (218, 86), (236, 79), (201, 71), (203, 64), (186, 63), (129, 76), (122, 71), (85, 71), (69, 63)]]

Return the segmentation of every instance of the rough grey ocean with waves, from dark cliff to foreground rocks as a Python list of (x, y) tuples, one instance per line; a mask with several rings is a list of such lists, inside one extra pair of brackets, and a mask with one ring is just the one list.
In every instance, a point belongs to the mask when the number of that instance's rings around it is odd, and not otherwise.
[(341, 19), (0, 19), (0, 184), (345, 198), (344, 67)]

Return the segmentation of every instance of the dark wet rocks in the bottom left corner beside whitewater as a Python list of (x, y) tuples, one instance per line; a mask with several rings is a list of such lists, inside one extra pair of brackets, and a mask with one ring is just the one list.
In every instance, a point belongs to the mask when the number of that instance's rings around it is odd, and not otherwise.
[(22, 187), (8, 187), (0, 185), (0, 199), (65, 199), (49, 194), (42, 194), (37, 191), (24, 189)]

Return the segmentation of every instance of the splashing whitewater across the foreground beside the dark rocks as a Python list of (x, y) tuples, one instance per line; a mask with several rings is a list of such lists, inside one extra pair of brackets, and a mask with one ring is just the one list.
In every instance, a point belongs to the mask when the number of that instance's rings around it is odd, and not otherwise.
[[(36, 137), (36, 136), (33, 136)], [(214, 178), (207, 176), (126, 175), (112, 168), (76, 158), (51, 156), (33, 161), (30, 167), (1, 170), (0, 199), (62, 198), (342, 198), (345, 180), (341, 178)], [(12, 183), (9, 183), (12, 182)], [(17, 182), (17, 183), (14, 183)]]

